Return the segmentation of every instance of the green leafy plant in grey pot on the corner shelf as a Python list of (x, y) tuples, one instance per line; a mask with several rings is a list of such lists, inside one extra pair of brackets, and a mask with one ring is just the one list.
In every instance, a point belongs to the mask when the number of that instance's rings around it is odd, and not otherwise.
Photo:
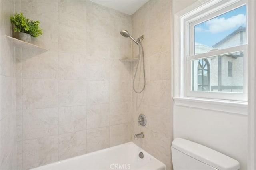
[(19, 32), (18, 39), (24, 42), (30, 42), (31, 37), (42, 35), (42, 29), (39, 28), (39, 21), (30, 20), (23, 16), (22, 13), (17, 14), (17, 12), (10, 19), (12, 24), (14, 24), (14, 32)]

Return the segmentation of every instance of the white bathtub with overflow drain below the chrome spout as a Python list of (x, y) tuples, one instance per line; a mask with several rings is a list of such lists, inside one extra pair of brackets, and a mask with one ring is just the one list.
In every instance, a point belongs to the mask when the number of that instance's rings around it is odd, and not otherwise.
[[(144, 154), (142, 159), (140, 152)], [(166, 170), (166, 166), (133, 142), (128, 142), (32, 170)]]

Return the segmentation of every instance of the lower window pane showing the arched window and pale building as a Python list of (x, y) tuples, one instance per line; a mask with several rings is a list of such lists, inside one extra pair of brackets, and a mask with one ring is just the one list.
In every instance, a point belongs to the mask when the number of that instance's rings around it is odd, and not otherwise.
[(243, 52), (192, 60), (192, 91), (243, 93), (243, 61)]

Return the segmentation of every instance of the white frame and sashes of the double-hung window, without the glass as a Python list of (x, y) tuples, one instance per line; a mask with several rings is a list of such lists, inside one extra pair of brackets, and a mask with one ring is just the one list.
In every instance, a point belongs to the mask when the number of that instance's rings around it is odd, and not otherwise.
[[(214, 18), (224, 14), (235, 8), (246, 5), (246, 10), (248, 11), (248, 2), (244, 0), (236, 1), (216, 1), (208, 0), (204, 2), (196, 2), (192, 6), (182, 10), (181, 12), (174, 15), (174, 32), (179, 32), (179, 38), (174, 34), (174, 55), (179, 56), (178, 61), (176, 60), (176, 67), (178, 65), (178, 73), (176, 76), (175, 85), (175, 98), (177, 97), (188, 97), (196, 99), (210, 99), (212, 101), (228, 101), (228, 102), (240, 102), (243, 105), (247, 105), (247, 44), (240, 45), (237, 47), (230, 47), (226, 49), (220, 49), (216, 51), (210, 51), (208, 53), (202, 53), (198, 55), (194, 54), (194, 38), (189, 38), (189, 26), (194, 29), (194, 25), (202, 23), (209, 18)], [(216, 12), (216, 8), (218, 11)], [(246, 12), (248, 13), (248, 12)], [(248, 18), (248, 15), (247, 15)], [(178, 23), (177, 23), (178, 21)], [(247, 19), (248, 21), (248, 19)], [(192, 24), (191, 24), (192, 23)], [(191, 29), (191, 28), (190, 28)], [(248, 26), (246, 26), (246, 32), (248, 33)], [(194, 30), (193, 30), (194, 32)], [(192, 35), (194, 36), (194, 34)], [(176, 38), (175, 38), (176, 37)], [(192, 41), (191, 41), (192, 40)], [(190, 41), (190, 42), (188, 42)], [(193, 48), (189, 48), (189, 44), (192, 43)], [(190, 45), (191, 46), (191, 45)], [(202, 59), (205, 57), (211, 57), (216, 55), (223, 55), (233, 52), (244, 52), (244, 85), (243, 93), (228, 93), (228, 92), (205, 92), (205, 91), (191, 91), (191, 60), (192, 59)], [(176, 58), (175, 58), (176, 59)], [(174, 60), (175, 60), (174, 59)], [(176, 74), (177, 75), (177, 74)], [(177, 88), (178, 87), (178, 88)]]

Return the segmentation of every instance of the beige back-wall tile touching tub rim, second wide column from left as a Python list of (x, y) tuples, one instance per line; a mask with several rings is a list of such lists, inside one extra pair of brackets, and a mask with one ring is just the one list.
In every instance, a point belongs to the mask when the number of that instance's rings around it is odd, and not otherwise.
[(86, 130), (59, 135), (59, 160), (86, 154)]

